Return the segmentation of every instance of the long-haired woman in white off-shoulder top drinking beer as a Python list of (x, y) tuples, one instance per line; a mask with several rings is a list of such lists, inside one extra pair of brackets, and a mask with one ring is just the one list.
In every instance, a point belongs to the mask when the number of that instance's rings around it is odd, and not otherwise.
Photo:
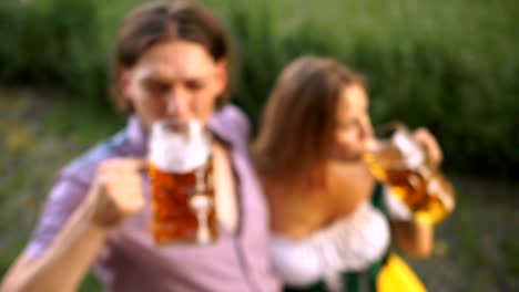
[[(415, 136), (439, 163), (432, 136)], [(288, 291), (355, 291), (364, 282), (376, 290), (379, 268), (398, 261), (388, 257), (391, 239), (410, 255), (430, 253), (432, 227), (413, 221), (363, 161), (370, 138), (360, 75), (313, 56), (283, 71), (253, 154), (271, 209), (274, 265)]]

